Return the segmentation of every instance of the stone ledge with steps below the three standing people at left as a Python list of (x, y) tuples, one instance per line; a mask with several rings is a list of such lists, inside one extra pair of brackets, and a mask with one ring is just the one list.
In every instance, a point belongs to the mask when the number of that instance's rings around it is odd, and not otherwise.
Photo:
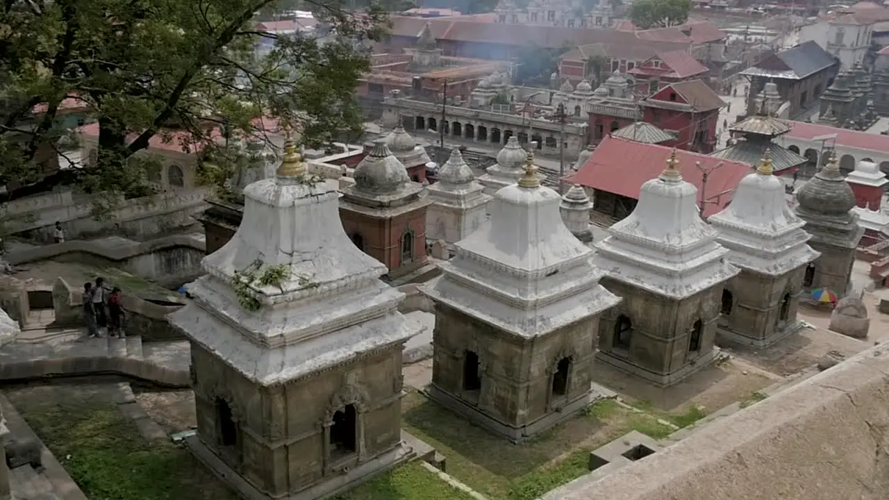
[(140, 336), (85, 338), (83, 330), (23, 333), (0, 349), (0, 382), (82, 375), (123, 375), (169, 387), (188, 387), (186, 341), (142, 343)]

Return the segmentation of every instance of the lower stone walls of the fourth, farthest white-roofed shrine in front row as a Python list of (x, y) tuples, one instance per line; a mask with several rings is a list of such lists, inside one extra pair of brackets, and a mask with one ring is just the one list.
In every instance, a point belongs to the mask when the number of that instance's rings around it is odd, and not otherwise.
[(720, 301), (717, 342), (765, 347), (796, 332), (805, 269), (778, 277), (742, 270), (729, 280)]

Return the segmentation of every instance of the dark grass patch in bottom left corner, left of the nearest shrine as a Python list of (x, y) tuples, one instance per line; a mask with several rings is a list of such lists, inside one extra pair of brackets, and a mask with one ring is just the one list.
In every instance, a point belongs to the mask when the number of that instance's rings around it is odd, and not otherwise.
[(184, 448), (144, 440), (113, 401), (52, 402), (23, 416), (91, 500), (236, 500)]

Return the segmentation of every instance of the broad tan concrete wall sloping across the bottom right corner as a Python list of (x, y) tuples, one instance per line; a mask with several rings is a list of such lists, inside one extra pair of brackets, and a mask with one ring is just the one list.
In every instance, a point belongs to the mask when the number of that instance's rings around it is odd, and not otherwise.
[(547, 500), (889, 498), (889, 343)]

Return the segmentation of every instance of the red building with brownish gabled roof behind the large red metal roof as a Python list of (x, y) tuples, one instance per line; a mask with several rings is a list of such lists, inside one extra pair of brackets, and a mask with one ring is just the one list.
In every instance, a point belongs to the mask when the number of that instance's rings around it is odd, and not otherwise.
[(725, 101), (702, 80), (667, 85), (639, 104), (644, 121), (676, 135), (675, 142), (664, 146), (699, 153), (716, 148), (719, 109)]

